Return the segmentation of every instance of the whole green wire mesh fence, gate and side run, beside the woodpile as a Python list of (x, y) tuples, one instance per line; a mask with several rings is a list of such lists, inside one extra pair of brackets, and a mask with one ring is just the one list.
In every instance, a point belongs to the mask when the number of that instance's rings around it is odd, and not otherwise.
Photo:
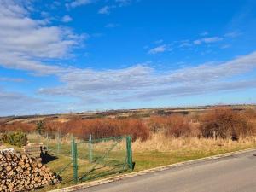
[(108, 137), (87, 141), (61, 136), (31, 134), (29, 142), (44, 143), (45, 163), (62, 179), (62, 183), (89, 181), (133, 169), (131, 137)]

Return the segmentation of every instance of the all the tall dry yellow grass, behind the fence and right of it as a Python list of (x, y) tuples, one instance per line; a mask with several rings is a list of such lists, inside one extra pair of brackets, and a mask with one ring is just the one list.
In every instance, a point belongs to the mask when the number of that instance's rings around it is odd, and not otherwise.
[[(45, 137), (38, 137), (37, 134), (29, 134), (28, 138), (31, 142), (43, 142), (43, 143), (62, 143), (70, 144), (72, 137), (70, 135), (61, 137), (58, 141), (55, 139), (47, 139)], [(76, 139), (77, 142), (82, 142)], [(104, 148), (104, 146), (111, 146), (113, 141), (94, 143), (94, 148)], [(86, 144), (87, 145), (87, 144)], [(211, 138), (198, 138), (198, 137), (166, 137), (163, 133), (152, 133), (147, 141), (141, 141), (137, 139), (132, 143), (132, 151), (135, 153), (140, 152), (173, 152), (181, 150), (195, 150), (211, 152), (216, 150), (230, 150), (236, 148), (250, 148), (256, 147), (256, 137), (241, 138), (238, 141), (232, 141), (230, 139), (213, 140)], [(122, 140), (115, 148), (115, 150), (125, 150), (125, 139)]]

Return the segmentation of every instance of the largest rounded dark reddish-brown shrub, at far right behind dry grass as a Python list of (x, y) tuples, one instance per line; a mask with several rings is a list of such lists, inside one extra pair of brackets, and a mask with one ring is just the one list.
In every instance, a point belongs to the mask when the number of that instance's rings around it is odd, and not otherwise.
[(201, 134), (203, 137), (233, 138), (253, 136), (255, 130), (245, 113), (232, 108), (212, 108), (201, 117)]

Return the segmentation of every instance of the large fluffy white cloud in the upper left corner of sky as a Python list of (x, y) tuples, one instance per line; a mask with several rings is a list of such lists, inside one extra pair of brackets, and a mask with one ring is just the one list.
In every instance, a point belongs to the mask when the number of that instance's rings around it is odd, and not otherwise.
[(86, 38), (63, 26), (47, 26), (33, 20), (30, 11), (19, 1), (0, 2), (0, 64), (3, 67), (53, 73), (58, 67), (42, 60), (61, 59)]

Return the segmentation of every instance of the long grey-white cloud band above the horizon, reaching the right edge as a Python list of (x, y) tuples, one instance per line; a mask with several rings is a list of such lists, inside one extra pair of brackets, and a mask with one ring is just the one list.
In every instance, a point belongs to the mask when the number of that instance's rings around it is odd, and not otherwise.
[[(95, 71), (73, 68), (57, 76), (64, 84), (42, 88), (39, 92), (53, 96), (86, 97), (102, 102), (146, 99), (157, 96), (187, 96), (213, 91), (256, 88), (255, 80), (230, 81), (232, 77), (256, 68), (256, 52), (222, 63), (201, 64), (176, 71), (157, 73), (147, 65), (124, 69)], [(251, 87), (250, 87), (250, 86)], [(169, 92), (168, 92), (169, 91)], [(144, 97), (143, 97), (144, 96)]]

